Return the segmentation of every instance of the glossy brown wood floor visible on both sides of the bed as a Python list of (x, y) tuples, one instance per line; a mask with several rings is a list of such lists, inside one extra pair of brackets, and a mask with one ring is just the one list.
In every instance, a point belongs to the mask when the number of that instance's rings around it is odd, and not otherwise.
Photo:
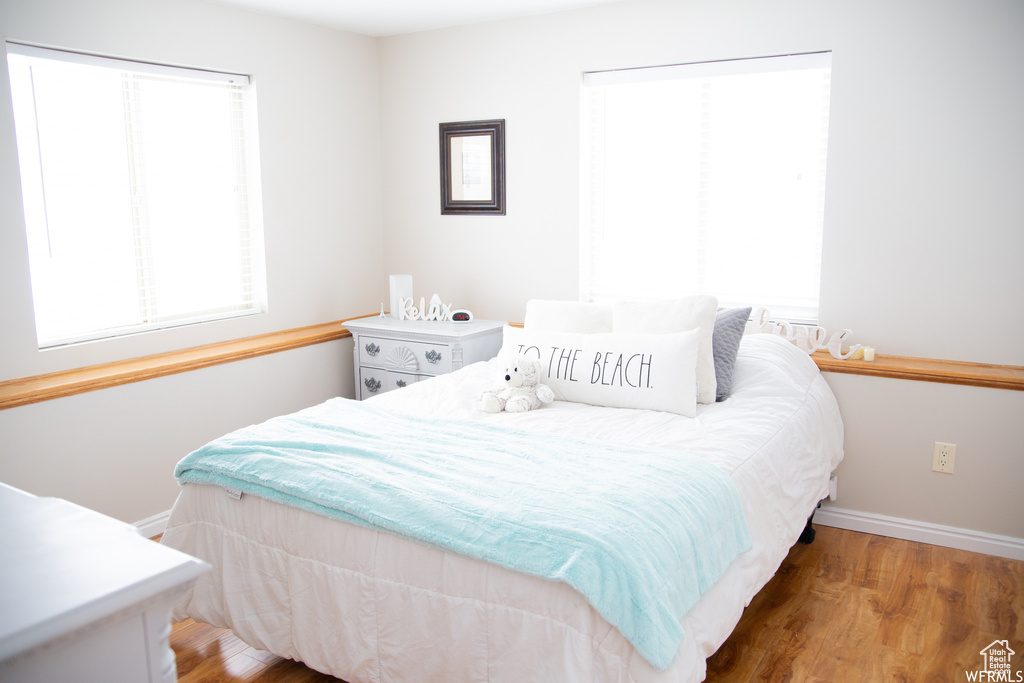
[[(962, 683), (995, 640), (1017, 653), (1016, 681), (1022, 614), (1024, 562), (818, 526), (708, 660), (708, 681)], [(190, 621), (171, 646), (182, 683), (337, 680)]]

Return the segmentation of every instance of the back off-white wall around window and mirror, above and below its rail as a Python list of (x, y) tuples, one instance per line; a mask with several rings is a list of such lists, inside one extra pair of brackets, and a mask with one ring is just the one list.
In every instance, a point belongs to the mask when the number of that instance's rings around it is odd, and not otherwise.
[[(636, 0), (380, 41), (385, 272), (478, 315), (578, 296), (584, 71), (833, 50), (820, 317), (1024, 365), (1024, 4)], [(441, 216), (437, 124), (504, 118), (504, 217)], [(1024, 393), (830, 376), (839, 505), (1024, 538)], [(932, 442), (958, 446), (953, 476)]]

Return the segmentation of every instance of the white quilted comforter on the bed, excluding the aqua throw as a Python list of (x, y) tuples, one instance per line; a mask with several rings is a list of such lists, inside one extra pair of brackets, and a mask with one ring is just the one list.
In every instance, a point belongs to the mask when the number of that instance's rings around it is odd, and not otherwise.
[[(515, 342), (520, 333), (508, 334)], [(481, 387), (494, 385), (502, 362), (367, 403), (437, 424), (685, 453), (734, 485), (750, 547), (680, 616), (669, 660), (652, 664), (563, 581), (216, 483), (182, 485), (163, 537), (213, 567), (175, 618), (229, 628), (350, 683), (703, 680), (706, 658), (801, 537), (842, 459), (842, 420), (816, 366), (783, 339), (748, 335), (730, 395), (698, 403), (694, 417), (570, 400), (487, 415)]]

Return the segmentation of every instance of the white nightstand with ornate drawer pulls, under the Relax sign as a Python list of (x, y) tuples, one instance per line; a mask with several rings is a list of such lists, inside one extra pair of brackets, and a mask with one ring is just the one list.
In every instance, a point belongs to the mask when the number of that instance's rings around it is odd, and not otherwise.
[(501, 321), (438, 323), (360, 317), (348, 321), (352, 333), (355, 397), (359, 400), (444, 375), (502, 348)]

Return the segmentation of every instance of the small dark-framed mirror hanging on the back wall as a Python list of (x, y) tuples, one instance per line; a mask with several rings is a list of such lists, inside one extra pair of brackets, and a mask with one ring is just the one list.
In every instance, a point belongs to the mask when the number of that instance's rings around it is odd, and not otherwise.
[[(438, 128), (441, 215), (504, 216), (505, 119), (442, 123)], [(464, 182), (453, 183), (460, 178)]]

